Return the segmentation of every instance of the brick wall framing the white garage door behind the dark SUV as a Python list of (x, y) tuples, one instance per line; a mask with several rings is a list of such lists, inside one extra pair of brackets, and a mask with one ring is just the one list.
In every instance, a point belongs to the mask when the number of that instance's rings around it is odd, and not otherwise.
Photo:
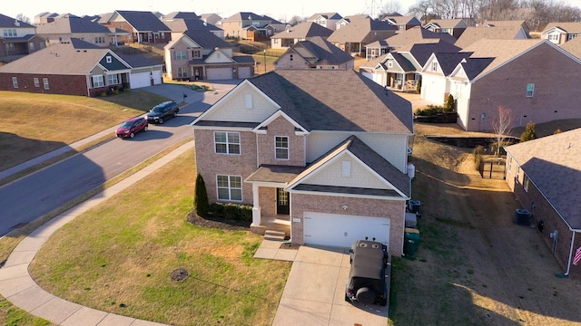
[[(341, 206), (349, 206), (346, 213)], [(293, 244), (304, 245), (304, 213), (321, 212), (329, 214), (352, 214), (357, 216), (389, 217), (389, 254), (403, 254), (405, 202), (385, 199), (356, 197), (331, 197), (304, 194), (291, 195), (291, 240)]]

